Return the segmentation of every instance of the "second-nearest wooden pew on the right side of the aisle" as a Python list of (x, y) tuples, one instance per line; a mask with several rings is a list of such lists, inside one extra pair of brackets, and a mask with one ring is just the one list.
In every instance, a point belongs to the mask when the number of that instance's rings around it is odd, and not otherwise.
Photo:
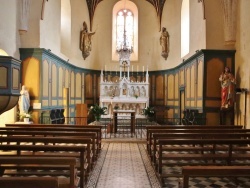
[[(250, 160), (250, 147), (247, 145), (250, 144), (250, 139), (159, 139), (159, 146), (157, 148), (156, 153), (156, 166), (157, 166), (157, 172), (160, 180), (163, 180), (165, 177), (171, 177), (171, 176), (179, 176), (177, 174), (165, 174), (162, 172), (163, 165), (169, 166), (168, 162), (169, 160), (179, 161), (179, 160), (196, 160), (196, 161), (203, 161), (204, 166), (208, 165), (217, 165), (216, 162), (223, 162), (223, 164), (226, 165), (232, 165), (235, 160)], [(202, 145), (200, 152), (198, 153), (171, 153), (171, 152), (164, 152), (163, 147), (165, 145), (190, 145), (190, 146), (199, 146)], [(206, 149), (206, 146), (215, 146), (213, 147), (212, 152), (206, 152), (203, 153), (204, 148)], [(218, 145), (225, 145), (227, 146), (228, 150), (225, 151), (224, 149), (220, 150), (220, 147), (217, 147)], [(245, 152), (239, 153), (237, 152), (240, 146), (244, 147)], [(178, 148), (178, 147), (176, 147)], [(248, 148), (248, 152), (246, 152), (246, 149)], [(210, 148), (209, 148), (210, 149)], [(180, 150), (178, 150), (180, 151)], [(172, 163), (173, 164), (173, 163)], [(177, 163), (176, 163), (177, 164)], [(188, 163), (181, 164), (178, 163), (180, 166), (186, 166)], [(196, 163), (198, 165), (198, 163)], [(239, 165), (238, 163), (235, 163), (234, 165)], [(246, 165), (246, 164), (244, 164)]]

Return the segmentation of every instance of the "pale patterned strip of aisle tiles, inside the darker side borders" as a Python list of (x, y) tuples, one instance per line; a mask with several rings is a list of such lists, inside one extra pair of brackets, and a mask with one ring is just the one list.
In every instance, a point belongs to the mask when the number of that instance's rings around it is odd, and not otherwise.
[(97, 188), (150, 188), (137, 143), (110, 143)]

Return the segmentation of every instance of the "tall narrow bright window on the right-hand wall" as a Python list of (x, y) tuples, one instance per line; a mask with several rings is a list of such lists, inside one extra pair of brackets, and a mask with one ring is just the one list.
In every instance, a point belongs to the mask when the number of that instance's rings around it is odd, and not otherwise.
[(189, 0), (183, 0), (181, 6), (181, 57), (189, 53)]

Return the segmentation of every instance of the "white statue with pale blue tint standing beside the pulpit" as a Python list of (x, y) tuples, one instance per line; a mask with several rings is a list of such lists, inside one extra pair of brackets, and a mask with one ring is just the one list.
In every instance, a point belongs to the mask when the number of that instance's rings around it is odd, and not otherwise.
[(26, 89), (26, 87), (23, 85), (22, 90), (20, 91), (20, 98), (19, 98), (19, 110), (20, 114), (22, 113), (28, 113), (30, 108), (30, 96), (29, 92)]

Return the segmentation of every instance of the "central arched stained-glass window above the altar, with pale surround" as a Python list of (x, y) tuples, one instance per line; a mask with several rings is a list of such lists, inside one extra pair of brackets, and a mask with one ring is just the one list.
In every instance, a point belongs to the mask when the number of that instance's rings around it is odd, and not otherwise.
[(138, 60), (138, 9), (128, 0), (118, 1), (113, 7), (112, 60), (118, 61), (117, 48), (124, 44), (133, 46), (130, 60)]

